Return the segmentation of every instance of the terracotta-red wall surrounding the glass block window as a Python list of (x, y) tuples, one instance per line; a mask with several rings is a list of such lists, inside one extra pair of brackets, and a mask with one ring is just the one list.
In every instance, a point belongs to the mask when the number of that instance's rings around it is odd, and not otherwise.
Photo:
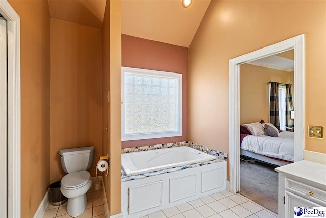
[(123, 141), (122, 148), (188, 140), (188, 48), (122, 34), (122, 66), (182, 74), (182, 136)]

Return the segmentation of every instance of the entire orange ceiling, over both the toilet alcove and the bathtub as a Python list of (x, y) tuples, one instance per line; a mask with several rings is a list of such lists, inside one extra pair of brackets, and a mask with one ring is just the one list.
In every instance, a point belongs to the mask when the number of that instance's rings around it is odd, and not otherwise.
[[(48, 0), (51, 18), (102, 28), (107, 0)], [(211, 0), (121, 0), (122, 33), (189, 47)]]

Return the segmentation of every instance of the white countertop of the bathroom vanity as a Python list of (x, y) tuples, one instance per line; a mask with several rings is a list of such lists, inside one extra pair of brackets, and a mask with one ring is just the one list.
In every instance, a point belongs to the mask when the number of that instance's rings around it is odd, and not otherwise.
[(275, 171), (300, 177), (312, 182), (326, 185), (326, 165), (308, 160), (301, 160), (275, 168)]

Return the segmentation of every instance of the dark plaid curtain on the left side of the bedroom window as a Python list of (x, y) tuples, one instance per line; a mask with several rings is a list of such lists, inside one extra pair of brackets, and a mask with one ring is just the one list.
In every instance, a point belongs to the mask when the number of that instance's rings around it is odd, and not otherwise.
[(279, 115), (279, 83), (271, 82), (270, 86), (270, 123), (276, 128), (280, 129), (280, 115)]

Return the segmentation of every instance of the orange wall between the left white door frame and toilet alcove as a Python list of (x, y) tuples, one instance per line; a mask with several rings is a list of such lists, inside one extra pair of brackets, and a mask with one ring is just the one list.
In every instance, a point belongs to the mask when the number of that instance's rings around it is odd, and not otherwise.
[(50, 15), (45, 0), (9, 3), (20, 16), (21, 217), (30, 218), (50, 184)]

